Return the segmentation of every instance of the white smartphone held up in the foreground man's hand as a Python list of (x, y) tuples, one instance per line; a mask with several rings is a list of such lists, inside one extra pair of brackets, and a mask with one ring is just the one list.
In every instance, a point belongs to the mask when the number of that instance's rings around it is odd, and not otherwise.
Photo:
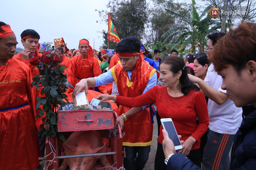
[(171, 118), (161, 119), (161, 123), (164, 130), (168, 132), (169, 138), (173, 141), (175, 150), (181, 150), (182, 144), (180, 143), (180, 139), (174, 127), (173, 120)]

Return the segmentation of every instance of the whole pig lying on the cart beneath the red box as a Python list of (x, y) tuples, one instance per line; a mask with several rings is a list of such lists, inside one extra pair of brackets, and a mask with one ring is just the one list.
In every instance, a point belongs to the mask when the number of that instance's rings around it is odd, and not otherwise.
[[(65, 155), (83, 155), (92, 153), (104, 153), (106, 145), (102, 144), (102, 136), (97, 131), (76, 131), (72, 133), (66, 142), (63, 143)], [(61, 164), (61, 168), (70, 170), (91, 170), (97, 160), (104, 167), (111, 167), (106, 155), (89, 156), (80, 158), (66, 158)]]

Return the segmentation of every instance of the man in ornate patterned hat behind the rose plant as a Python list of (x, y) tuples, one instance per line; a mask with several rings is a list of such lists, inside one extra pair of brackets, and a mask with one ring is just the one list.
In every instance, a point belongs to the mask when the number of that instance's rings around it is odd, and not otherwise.
[[(59, 56), (61, 56), (61, 57), (64, 59), (64, 61), (61, 62), (61, 65), (65, 65), (64, 74), (66, 74), (71, 59), (68, 58), (67, 56), (65, 56), (65, 54), (69, 51), (69, 49), (67, 48), (66, 45), (65, 45), (65, 46), (62, 46), (62, 45), (64, 45), (64, 44), (65, 44), (65, 42), (64, 42), (64, 39), (63, 39), (62, 37), (61, 37), (61, 38), (58, 38), (58, 39), (54, 39), (55, 51), (56, 51), (56, 53), (57, 53)], [(63, 54), (62, 54), (60, 48), (63, 49)]]

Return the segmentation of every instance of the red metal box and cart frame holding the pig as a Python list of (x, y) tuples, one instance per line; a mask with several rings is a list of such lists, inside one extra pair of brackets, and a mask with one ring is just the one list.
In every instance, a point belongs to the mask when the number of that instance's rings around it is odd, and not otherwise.
[[(108, 102), (103, 102), (102, 107), (111, 108)], [(117, 113), (114, 112), (117, 117)], [(110, 163), (114, 164), (114, 167), (119, 169), (123, 166), (123, 138), (121, 128), (118, 124), (119, 136), (112, 135), (109, 129), (114, 129), (114, 117), (113, 110), (58, 110), (58, 121), (57, 121), (58, 132), (61, 132), (66, 138), (70, 136), (74, 131), (88, 131), (97, 130), (103, 137), (103, 142), (106, 143), (106, 153), (95, 153), (87, 155), (71, 155), (63, 156), (64, 149), (62, 147), (62, 140), (56, 138), (47, 138), (45, 143), (47, 161), (53, 160), (49, 166), (49, 170), (57, 169), (61, 166), (62, 159), (71, 157), (85, 157), (85, 156), (98, 156), (98, 155), (109, 155), (107, 159)], [(52, 146), (52, 147), (51, 147)], [(55, 155), (50, 154), (53, 150), (56, 151)], [(49, 155), (50, 154), (50, 155)], [(41, 158), (42, 160), (42, 158)], [(97, 165), (96, 165), (97, 166)]]

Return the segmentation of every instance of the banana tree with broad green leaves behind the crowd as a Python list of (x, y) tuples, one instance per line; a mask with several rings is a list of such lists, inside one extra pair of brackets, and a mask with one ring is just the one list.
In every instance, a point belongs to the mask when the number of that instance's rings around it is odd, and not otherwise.
[[(180, 17), (187, 23), (185, 27), (173, 27), (169, 31), (163, 34), (162, 37), (166, 38), (163, 44), (167, 43), (173, 36), (178, 36), (174, 43), (170, 43), (166, 46), (177, 51), (189, 47), (189, 51), (195, 53), (198, 49), (199, 52), (204, 51), (206, 45), (206, 36), (211, 32), (217, 32), (217, 29), (221, 27), (221, 23), (217, 20), (212, 19), (209, 15), (210, 6), (204, 9), (202, 14), (199, 16), (195, 8), (195, 0), (192, 0), (192, 11), (190, 20), (185, 19), (182, 15), (166, 9), (170, 15)], [(207, 15), (205, 18), (204, 16)]]

